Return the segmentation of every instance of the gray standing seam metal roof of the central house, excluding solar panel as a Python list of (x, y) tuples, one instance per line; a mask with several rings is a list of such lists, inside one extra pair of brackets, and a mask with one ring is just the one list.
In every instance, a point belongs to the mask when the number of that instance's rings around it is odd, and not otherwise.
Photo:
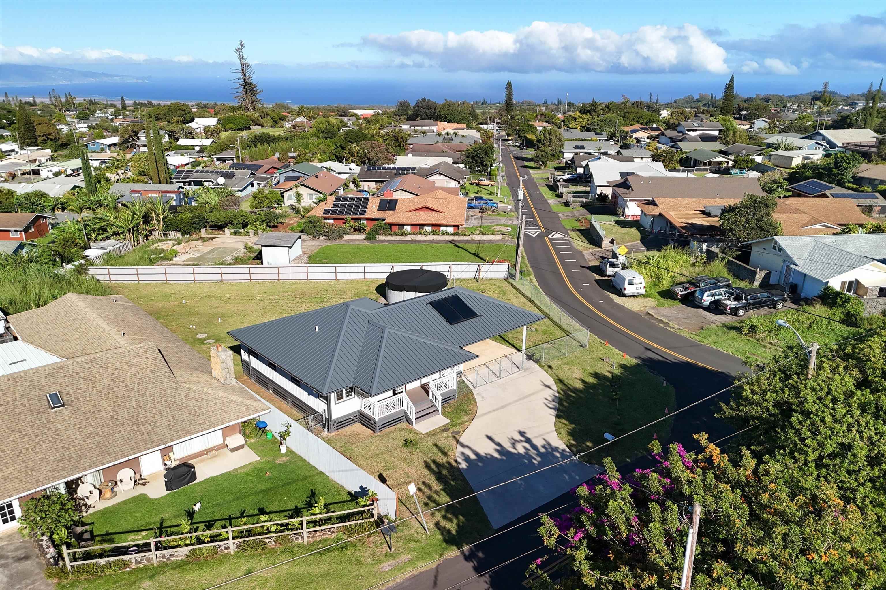
[[(461, 295), (477, 318), (450, 325), (428, 304)], [(476, 358), (462, 349), (544, 316), (463, 287), (383, 305), (362, 297), (231, 330), (258, 356), (321, 394), (356, 386), (369, 395)]]

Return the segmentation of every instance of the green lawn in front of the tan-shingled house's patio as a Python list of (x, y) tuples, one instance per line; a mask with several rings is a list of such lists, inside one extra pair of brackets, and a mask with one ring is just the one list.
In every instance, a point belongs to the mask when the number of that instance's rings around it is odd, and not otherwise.
[(300, 516), (304, 509), (311, 507), (307, 497), (312, 493), (323, 496), (330, 503), (331, 510), (355, 507), (346, 489), (325, 473), (295, 453), (281, 455), (280, 443), (276, 439), (257, 439), (249, 443), (249, 448), (260, 457), (259, 461), (159, 498), (139, 494), (89, 514), (84, 520), (92, 524), (96, 544), (179, 534), (179, 521), (197, 502), (202, 505), (194, 524), (217, 523), (218, 528), (231, 526), (231, 523), (237, 526), (240, 517), (247, 517), (249, 523), (254, 523), (260, 514), (265, 513), (274, 520), (292, 518), (286, 516), (292, 512)]

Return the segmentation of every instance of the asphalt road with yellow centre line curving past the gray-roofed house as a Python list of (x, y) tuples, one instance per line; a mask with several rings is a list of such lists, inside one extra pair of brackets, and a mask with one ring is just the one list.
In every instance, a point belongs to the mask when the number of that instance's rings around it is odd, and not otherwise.
[[(516, 197), (523, 177), (524, 213), (528, 216), (525, 255), (535, 280), (550, 299), (597, 338), (609, 341), (615, 349), (666, 379), (676, 391), (677, 408), (728, 387), (737, 372), (747, 370), (738, 357), (680, 336), (613, 301), (598, 284), (604, 280), (588, 267), (581, 251), (572, 247), (569, 233), (556, 212), (551, 211), (532, 173), (523, 167), (520, 153), (505, 151), (502, 156), (511, 195)], [(713, 416), (719, 401), (725, 401), (727, 395), (724, 393), (681, 413), (672, 425), (670, 441), (679, 441), (691, 448), (695, 433), (709, 433), (712, 440), (731, 433), (727, 425)], [(563, 494), (502, 526), (498, 536), (393, 587), (398, 590), (523, 587), (527, 565), (536, 557), (548, 555), (547, 549), (539, 547), (539, 519), (534, 517), (573, 500), (571, 494)], [(559, 510), (555, 510), (555, 514), (557, 512)]]

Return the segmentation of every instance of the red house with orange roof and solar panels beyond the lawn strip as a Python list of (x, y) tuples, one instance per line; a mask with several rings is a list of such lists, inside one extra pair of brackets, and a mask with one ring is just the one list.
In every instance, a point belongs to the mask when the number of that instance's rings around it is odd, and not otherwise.
[(392, 193), (370, 197), (352, 191), (318, 203), (310, 215), (327, 223), (342, 225), (346, 218), (362, 221), (367, 227), (385, 221), (392, 231), (434, 231), (452, 234), (465, 224), (468, 200), (437, 189), (420, 196), (398, 199)]

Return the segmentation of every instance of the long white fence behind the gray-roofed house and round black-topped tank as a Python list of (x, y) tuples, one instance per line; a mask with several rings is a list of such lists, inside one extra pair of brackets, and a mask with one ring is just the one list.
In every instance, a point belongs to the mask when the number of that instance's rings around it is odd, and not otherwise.
[(423, 269), (452, 279), (507, 279), (509, 263), (258, 264), (221, 266), (90, 266), (89, 274), (109, 283), (206, 283), (260, 280), (384, 280), (395, 271)]

